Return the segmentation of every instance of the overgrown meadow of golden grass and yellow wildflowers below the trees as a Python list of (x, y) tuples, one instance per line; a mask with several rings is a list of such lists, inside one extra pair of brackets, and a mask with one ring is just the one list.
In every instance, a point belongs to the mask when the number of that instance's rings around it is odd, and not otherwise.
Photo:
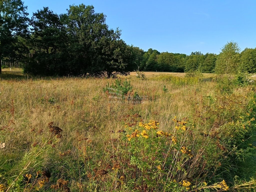
[(109, 89), (115, 79), (4, 69), (0, 191), (253, 191), (254, 85), (220, 94), (184, 73), (145, 75)]

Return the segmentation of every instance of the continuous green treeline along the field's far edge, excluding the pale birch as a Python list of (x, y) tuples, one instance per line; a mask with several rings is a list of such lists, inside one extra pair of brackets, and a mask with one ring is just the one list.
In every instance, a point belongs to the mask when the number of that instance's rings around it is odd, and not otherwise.
[[(93, 6), (84, 4), (71, 5), (66, 14), (60, 15), (43, 7), (28, 18), (27, 7), (21, 0), (3, 0), (1, 68), (16, 62), (28, 74), (108, 78), (134, 70), (214, 72), (218, 58), (214, 53), (144, 51), (127, 45), (120, 38), (121, 30), (110, 29), (105, 20), (103, 13), (95, 13)], [(256, 48), (240, 53), (240, 65), (242, 72), (256, 72)]]

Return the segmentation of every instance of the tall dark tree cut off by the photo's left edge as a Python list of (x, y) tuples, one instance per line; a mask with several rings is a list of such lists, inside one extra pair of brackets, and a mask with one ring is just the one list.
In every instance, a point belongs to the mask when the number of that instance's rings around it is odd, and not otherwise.
[(4, 57), (15, 58), (19, 54), (19, 39), (28, 34), (26, 10), (21, 0), (0, 1), (0, 60)]

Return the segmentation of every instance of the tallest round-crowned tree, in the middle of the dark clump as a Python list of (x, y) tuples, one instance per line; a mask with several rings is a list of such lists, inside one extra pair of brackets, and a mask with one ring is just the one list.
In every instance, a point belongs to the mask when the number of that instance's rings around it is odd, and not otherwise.
[(93, 6), (81, 4), (71, 5), (68, 13), (63, 14), (61, 18), (65, 20), (69, 37), (68, 65), (72, 66), (70, 74), (94, 72), (94, 67), (101, 59), (101, 38), (108, 36), (109, 33), (108, 26), (105, 24), (105, 15), (95, 13)]

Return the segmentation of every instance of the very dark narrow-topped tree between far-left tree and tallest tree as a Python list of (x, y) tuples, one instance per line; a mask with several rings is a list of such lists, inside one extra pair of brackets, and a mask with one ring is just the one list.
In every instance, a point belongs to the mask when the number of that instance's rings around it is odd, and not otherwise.
[(31, 18), (30, 52), (33, 57), (24, 63), (25, 73), (44, 75), (65, 75), (64, 54), (67, 46), (67, 35), (60, 17), (44, 7), (33, 13)]

